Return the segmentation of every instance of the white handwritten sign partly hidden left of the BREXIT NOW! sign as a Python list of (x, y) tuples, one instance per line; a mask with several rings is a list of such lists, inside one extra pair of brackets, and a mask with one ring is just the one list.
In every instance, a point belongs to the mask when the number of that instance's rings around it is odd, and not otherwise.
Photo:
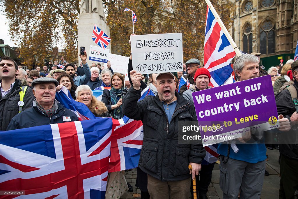
[(110, 53), (108, 60), (111, 61), (113, 72), (119, 72), (121, 74), (127, 73), (129, 57)]

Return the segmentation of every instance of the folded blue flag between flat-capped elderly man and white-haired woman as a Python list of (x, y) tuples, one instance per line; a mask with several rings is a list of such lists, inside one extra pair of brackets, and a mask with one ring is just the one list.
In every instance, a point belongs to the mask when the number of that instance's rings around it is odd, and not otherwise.
[(85, 104), (72, 99), (70, 92), (65, 86), (63, 86), (60, 91), (56, 92), (55, 99), (59, 101), (63, 105), (63, 107), (74, 112), (79, 120), (95, 119), (95, 115)]

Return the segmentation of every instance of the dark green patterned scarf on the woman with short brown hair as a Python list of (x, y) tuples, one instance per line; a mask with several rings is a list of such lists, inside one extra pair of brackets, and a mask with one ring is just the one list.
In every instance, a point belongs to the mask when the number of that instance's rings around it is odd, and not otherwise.
[[(123, 87), (121, 89), (115, 89), (114, 87), (111, 87), (110, 96), (111, 96), (112, 105), (117, 104), (119, 99), (123, 98), (123, 96), (126, 94), (126, 92), (127, 92), (127, 90), (123, 89)], [(120, 107), (114, 109), (112, 114), (113, 115), (111, 115), (111, 116), (114, 116), (117, 119), (123, 118), (122, 105)]]

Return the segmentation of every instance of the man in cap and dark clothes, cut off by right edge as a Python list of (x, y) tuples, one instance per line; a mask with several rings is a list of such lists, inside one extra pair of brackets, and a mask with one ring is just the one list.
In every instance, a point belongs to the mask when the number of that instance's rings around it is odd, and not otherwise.
[[(293, 86), (298, 93), (298, 60), (291, 64), (291, 69), (295, 79)], [(275, 100), (278, 114), (282, 114), (291, 121), (291, 130), (279, 135), (280, 198), (294, 198), (294, 193), (298, 189), (298, 105), (296, 108), (291, 93), (287, 89), (277, 94)]]

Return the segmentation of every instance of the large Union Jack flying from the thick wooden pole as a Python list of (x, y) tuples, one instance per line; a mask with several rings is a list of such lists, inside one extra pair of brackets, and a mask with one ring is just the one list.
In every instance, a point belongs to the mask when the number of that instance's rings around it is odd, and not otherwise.
[(231, 61), (235, 54), (232, 45), (207, 6), (204, 67), (211, 75), (210, 86), (217, 87), (233, 83)]

